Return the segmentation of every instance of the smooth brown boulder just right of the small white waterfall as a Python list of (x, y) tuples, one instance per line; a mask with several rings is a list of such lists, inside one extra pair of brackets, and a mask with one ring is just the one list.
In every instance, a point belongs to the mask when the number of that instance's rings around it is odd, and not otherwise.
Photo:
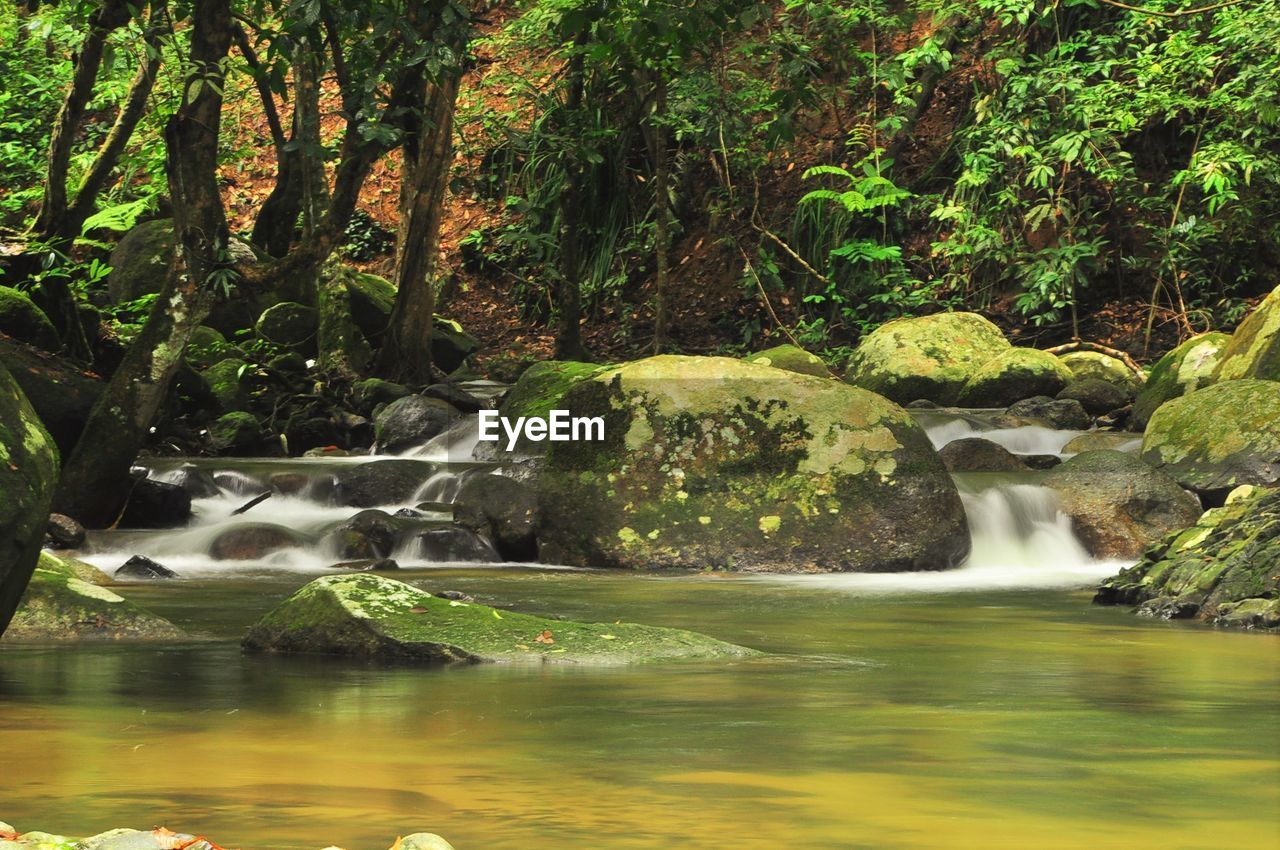
[(1076, 536), (1096, 558), (1137, 558), (1201, 515), (1201, 503), (1171, 477), (1133, 454), (1082, 452), (1043, 480), (1059, 494)]

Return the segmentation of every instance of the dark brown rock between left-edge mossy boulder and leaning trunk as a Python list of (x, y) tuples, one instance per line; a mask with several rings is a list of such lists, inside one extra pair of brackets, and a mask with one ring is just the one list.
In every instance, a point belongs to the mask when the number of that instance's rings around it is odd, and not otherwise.
[(0, 337), (0, 364), (27, 396), (58, 451), (70, 454), (102, 394), (102, 381), (33, 346), (4, 337)]

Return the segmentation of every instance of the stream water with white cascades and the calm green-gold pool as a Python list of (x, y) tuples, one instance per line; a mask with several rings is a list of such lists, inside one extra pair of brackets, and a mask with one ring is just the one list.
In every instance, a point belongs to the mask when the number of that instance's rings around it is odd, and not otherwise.
[[(936, 443), (992, 437), (980, 419), (968, 433), (952, 421), (929, 425)], [(1064, 437), (996, 439), (1042, 453)], [(449, 462), (458, 439), (426, 449), (438, 466), (415, 499), (448, 502), (460, 475), (490, 471)], [(763, 659), (241, 655), (248, 625), (333, 558), (311, 543), (220, 562), (210, 535), (246, 521), (230, 511), (264, 476), (305, 470), (297, 495), (246, 517), (317, 539), (355, 512), (323, 498), (351, 462), (218, 461), (228, 475), (192, 529), (95, 541), (102, 566), (146, 552), (178, 570), (124, 591), (196, 638), (6, 645), (0, 819), (68, 833), (164, 823), (273, 849), (372, 850), (422, 830), (460, 850), (1280, 847), (1274, 639), (1091, 605), (1119, 565), (1088, 557), (1036, 474), (959, 479), (974, 550), (942, 573), (641, 575), (399, 553), (415, 568), (397, 577), (429, 590), (696, 629)]]

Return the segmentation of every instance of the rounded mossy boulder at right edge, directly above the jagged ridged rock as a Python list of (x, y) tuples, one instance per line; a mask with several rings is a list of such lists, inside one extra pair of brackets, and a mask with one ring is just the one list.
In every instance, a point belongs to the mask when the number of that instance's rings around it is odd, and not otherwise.
[(1162, 405), (1142, 460), (1197, 493), (1280, 481), (1280, 383), (1229, 380)]

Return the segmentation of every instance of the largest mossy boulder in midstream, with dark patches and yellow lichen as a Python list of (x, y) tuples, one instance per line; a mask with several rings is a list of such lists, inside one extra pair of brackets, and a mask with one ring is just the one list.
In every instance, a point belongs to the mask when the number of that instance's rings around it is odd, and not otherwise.
[(604, 439), (552, 443), (544, 561), (773, 571), (945, 570), (964, 508), (924, 430), (865, 390), (723, 357), (662, 356), (568, 392)]

